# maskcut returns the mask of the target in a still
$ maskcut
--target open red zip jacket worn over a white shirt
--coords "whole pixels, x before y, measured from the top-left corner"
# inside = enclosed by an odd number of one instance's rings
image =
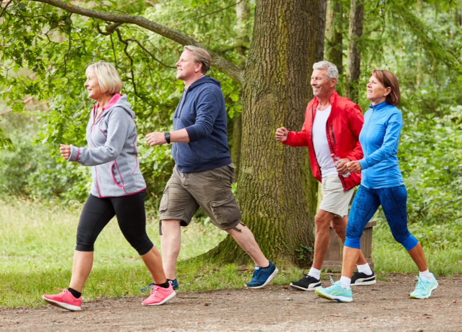
[[[329,118],[326,122],[327,142],[330,152],[340,158],[359,160],[363,157],[363,150],[359,144],[359,133],[363,127],[364,117],[358,105],[345,97],[339,96],[337,91],[330,97],[332,105]],[[289,136],[284,144],[291,147],[306,147],[310,150],[311,171],[313,176],[320,182],[321,169],[316,159],[313,148],[311,129],[318,108],[318,98],[314,97],[306,108],[305,123],[302,131],[289,131]],[[361,173],[351,173],[348,178],[339,174],[344,190],[349,190],[361,182]]]

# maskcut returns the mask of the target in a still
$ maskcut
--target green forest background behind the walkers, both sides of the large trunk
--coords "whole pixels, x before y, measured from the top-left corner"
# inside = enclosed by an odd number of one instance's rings
[[[365,112],[369,105],[365,86],[371,70],[388,69],[398,76],[399,108],[404,118],[398,157],[408,191],[410,228],[430,250],[460,250],[462,1],[309,2],[319,12],[318,29],[312,35],[316,44],[312,51],[317,53],[314,60],[337,64],[340,95],[349,96]],[[243,69],[259,1],[72,3],[102,12],[143,16],[194,38]],[[18,208],[35,202],[37,209],[66,210],[78,209],[85,202],[91,181],[89,168],[65,162],[58,156],[58,147],[60,143],[86,146],[85,124],[93,101],[83,88],[85,68],[102,59],[119,70],[123,93],[137,114],[138,160],[148,193],[146,210],[155,220],[174,162],[170,146],[150,147],[144,135],[172,130],[173,112],[183,89],[183,83],[175,79],[174,66],[182,45],[134,24],[104,22],[35,1],[2,0],[0,5],[2,206]],[[311,67],[308,71],[311,75]],[[237,76],[232,79],[223,72],[212,66],[209,75],[222,83],[231,157],[239,166],[243,88],[236,82]],[[295,111],[304,114],[305,109]],[[268,134],[272,139],[275,129]],[[240,167],[238,177],[239,171]],[[306,174],[311,177],[311,172]],[[244,204],[240,183],[234,184],[234,191],[239,204]],[[316,202],[312,205],[316,207]],[[384,233],[386,222],[380,212],[376,217],[382,221],[375,231],[381,243],[392,243],[390,235]],[[202,211],[196,214],[196,223],[202,229],[208,225]],[[218,236],[213,245],[223,238]],[[3,240],[3,248],[7,243]],[[374,243],[375,254],[386,255]],[[293,254],[309,261],[312,243],[302,244]],[[454,263],[462,263],[456,256]]]

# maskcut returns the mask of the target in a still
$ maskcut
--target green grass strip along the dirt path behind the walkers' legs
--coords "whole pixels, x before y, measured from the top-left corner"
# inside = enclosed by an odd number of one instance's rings
[[[68,286],[80,211],[81,206],[42,206],[27,200],[0,198],[0,306],[40,306],[44,304],[42,294],[53,294],[55,286]],[[419,225],[410,228],[414,235],[425,238],[422,243],[431,272],[439,276],[462,273],[458,246],[462,241],[453,236],[459,234],[456,228],[444,230],[446,238],[451,239],[446,242],[433,239],[431,228],[424,233]],[[442,229],[437,228],[435,234],[442,237]],[[148,217],[147,232],[160,248],[156,215]],[[251,279],[250,265],[217,266],[188,260],[213,248],[225,236],[226,232],[208,223],[192,223],[182,228],[177,268],[180,291],[242,288]],[[436,246],[435,241],[439,241]],[[93,270],[83,292],[85,300],[140,295],[143,293],[139,288],[151,282],[142,260],[123,238],[115,220],[96,241],[94,257]],[[386,222],[380,220],[374,229],[373,257],[377,279],[387,280],[385,272],[417,273],[404,248],[393,240]],[[273,282],[287,284],[298,280],[301,273],[299,269],[282,270]]]

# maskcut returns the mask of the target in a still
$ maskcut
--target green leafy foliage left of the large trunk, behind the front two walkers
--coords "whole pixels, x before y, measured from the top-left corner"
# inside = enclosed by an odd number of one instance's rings
[[[226,59],[240,61],[235,48],[235,8],[227,1],[164,0],[157,1],[155,7],[141,0],[129,4],[93,1],[91,6],[101,11],[143,15],[165,23]],[[24,160],[31,159],[33,153],[41,156],[38,158],[41,164],[38,161],[33,164],[33,175],[27,170],[26,177],[24,167],[17,170],[24,171],[20,177],[26,180],[10,189],[43,197],[54,195],[65,200],[85,199],[87,171],[63,163],[58,158],[58,147],[60,143],[87,145],[85,127],[93,101],[87,98],[83,87],[85,68],[95,60],[106,60],[116,66],[123,81],[122,93],[128,95],[137,115],[140,168],[147,182],[150,202],[158,203],[173,169],[173,159],[170,147],[151,148],[144,135],[172,129],[173,112],[183,89],[172,67],[182,46],[137,26],[124,24],[111,34],[105,32],[105,26],[106,22],[71,15],[33,1],[13,3],[5,9],[0,19],[0,98],[13,113],[23,112],[25,96],[46,101],[48,105],[45,112],[35,115],[44,121],[40,130],[34,132],[37,145],[32,147],[27,139],[11,136],[18,151],[0,155],[5,165],[6,160],[12,161],[14,153],[19,151]],[[240,87],[213,68],[209,75],[222,82],[232,124],[232,118],[241,110]],[[1,144],[6,147],[9,142],[0,136],[0,148]],[[47,148],[49,160],[45,153]],[[55,158],[57,161],[52,160]],[[32,167],[30,165],[28,167]]]

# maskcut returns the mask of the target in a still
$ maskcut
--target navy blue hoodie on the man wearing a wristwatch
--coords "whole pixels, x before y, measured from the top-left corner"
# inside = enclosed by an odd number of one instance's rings
[[[225,98],[220,82],[202,76],[186,90],[173,114],[173,130],[186,128],[189,143],[173,143],[176,168],[201,172],[231,164]]]

